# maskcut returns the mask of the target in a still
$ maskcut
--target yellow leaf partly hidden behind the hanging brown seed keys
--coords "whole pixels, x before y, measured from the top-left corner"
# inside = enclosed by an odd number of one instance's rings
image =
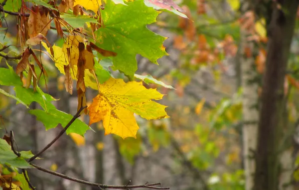
[[[50,52],[50,48],[47,46],[47,44],[45,42],[42,41],[42,45],[46,48],[46,50],[48,52]],[[53,45],[52,46],[55,57],[53,57],[52,55],[49,54],[49,56],[54,60],[55,62],[55,66],[59,69],[59,71],[63,74],[65,74],[64,71],[64,65],[68,65],[69,64],[69,60],[68,60],[68,55],[65,54],[65,52],[62,50],[63,48]],[[78,46],[77,46],[78,48]],[[73,51],[75,53],[75,51]],[[79,53],[79,50],[78,50]],[[79,54],[78,54],[78,58],[79,58]],[[77,61],[78,61],[77,58]],[[73,65],[73,68],[70,68],[70,74],[72,76],[73,79],[77,80],[77,65]],[[85,69],[85,77],[84,77],[84,82],[86,86],[90,86],[93,89],[98,89],[96,80],[94,78],[94,75],[89,71],[89,69]]]

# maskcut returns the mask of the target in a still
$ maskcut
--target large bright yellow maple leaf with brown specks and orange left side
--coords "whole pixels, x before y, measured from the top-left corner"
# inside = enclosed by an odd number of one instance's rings
[[[117,134],[122,138],[134,137],[138,125],[134,113],[146,119],[169,117],[167,106],[152,99],[161,99],[163,94],[156,89],[146,89],[142,82],[110,78],[100,85],[100,94],[93,98],[88,107],[90,122],[103,120],[105,134]]]

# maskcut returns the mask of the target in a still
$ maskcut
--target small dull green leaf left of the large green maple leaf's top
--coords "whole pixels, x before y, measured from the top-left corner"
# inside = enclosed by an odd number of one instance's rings
[[[99,23],[95,18],[88,15],[74,15],[74,14],[62,14],[60,15],[66,22],[68,22],[74,28],[83,27],[86,22]]]

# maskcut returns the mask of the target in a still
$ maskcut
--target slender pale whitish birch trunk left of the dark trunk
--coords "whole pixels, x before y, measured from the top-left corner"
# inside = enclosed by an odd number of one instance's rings
[[[244,0],[241,12],[244,14],[249,8],[248,0]],[[256,149],[257,142],[257,122],[258,122],[258,80],[255,68],[254,57],[246,55],[245,49],[254,51],[254,43],[247,40],[248,32],[241,30],[241,43],[239,47],[240,59],[237,66],[240,68],[240,78],[242,87],[242,139],[243,139],[243,165],[245,171],[245,189],[251,190],[253,187],[253,176],[255,172],[255,160],[253,151]]]

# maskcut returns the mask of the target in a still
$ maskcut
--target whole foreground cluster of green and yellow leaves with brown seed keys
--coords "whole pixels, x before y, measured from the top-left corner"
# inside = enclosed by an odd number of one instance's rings
[[[48,72],[44,66],[47,60],[44,55],[52,59],[65,75],[65,89],[70,94],[73,93],[73,80],[77,80],[78,110],[87,104],[87,87],[98,91],[81,114],[90,116],[89,125],[102,120],[105,134],[136,138],[139,127],[134,114],[145,119],[169,117],[166,106],[154,101],[162,99],[163,94],[156,89],[145,88],[142,82],[173,87],[151,75],[135,74],[135,56],[141,54],[158,64],[157,59],[168,55],[163,46],[166,37],[151,31],[146,25],[156,21],[160,13],[158,9],[187,17],[172,0],[61,0],[59,4],[54,0],[17,0],[14,3],[12,0],[2,0],[1,3],[0,8],[5,12],[1,25],[8,16],[18,16],[18,43],[14,45],[20,48],[11,48],[10,40],[1,43],[0,57],[19,62],[17,65],[7,63],[7,68],[0,68],[0,85],[14,86],[16,94],[4,89],[0,92],[27,108],[36,101],[42,109],[30,109],[29,112],[36,115],[46,129],[54,128],[59,123],[66,127],[73,116],[58,110],[52,103],[57,99],[39,86],[44,82],[48,90]],[[7,29],[2,27],[2,33]],[[51,29],[57,31],[63,43],[51,45],[47,39]],[[5,53],[5,49],[11,51]],[[15,66],[16,69],[13,68]],[[129,81],[114,78],[109,67],[124,73]],[[135,77],[139,81],[135,81]],[[89,125],[75,119],[66,132],[83,136]],[[32,167],[26,160],[33,156],[31,152],[21,151],[18,156],[6,140],[0,140],[1,164],[9,165],[14,171]],[[24,176],[25,173],[17,174],[22,183],[20,186],[29,189],[24,186],[27,185]],[[19,189],[12,186],[12,177],[9,179],[1,176],[2,188]]]

